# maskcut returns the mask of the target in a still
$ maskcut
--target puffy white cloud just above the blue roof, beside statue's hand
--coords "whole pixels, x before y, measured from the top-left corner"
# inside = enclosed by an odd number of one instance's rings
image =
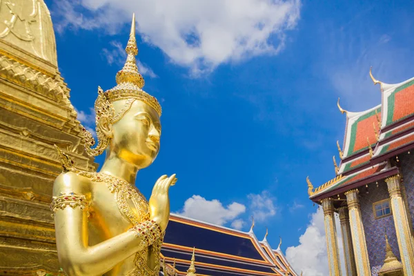
[[[184,203],[183,210],[178,215],[199,219],[211,224],[224,225],[246,212],[246,206],[233,202],[223,206],[217,199],[207,200],[199,195],[193,195]],[[234,221],[233,221],[234,222]],[[239,222],[236,222],[236,225]]]

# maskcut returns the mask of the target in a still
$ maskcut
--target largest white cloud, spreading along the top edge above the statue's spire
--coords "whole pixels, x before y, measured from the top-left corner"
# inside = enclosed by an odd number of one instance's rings
[[[53,10],[60,18],[58,32],[115,33],[135,12],[144,41],[199,74],[227,61],[277,55],[286,31],[299,20],[300,6],[299,0],[61,0]]]

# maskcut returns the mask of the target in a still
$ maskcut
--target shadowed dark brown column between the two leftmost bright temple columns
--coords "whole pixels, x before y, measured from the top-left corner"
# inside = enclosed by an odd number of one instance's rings
[[[346,276],[357,276],[355,255],[353,253],[351,225],[349,224],[348,208],[339,208],[339,221],[341,221],[342,244],[344,244]]]

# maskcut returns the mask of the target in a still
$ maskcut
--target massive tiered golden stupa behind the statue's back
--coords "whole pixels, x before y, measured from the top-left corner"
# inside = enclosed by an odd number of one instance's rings
[[[96,164],[57,67],[46,4],[0,1],[0,19],[0,275],[56,275],[49,207],[62,169],[54,144],[82,170]]]

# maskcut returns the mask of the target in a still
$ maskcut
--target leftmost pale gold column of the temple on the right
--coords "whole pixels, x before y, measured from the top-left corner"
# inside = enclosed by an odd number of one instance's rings
[[[333,199],[328,197],[322,199],[322,208],[324,208],[324,221],[326,233],[326,246],[328,248],[329,274],[331,276],[342,275],[339,262],[338,239],[335,226]]]

